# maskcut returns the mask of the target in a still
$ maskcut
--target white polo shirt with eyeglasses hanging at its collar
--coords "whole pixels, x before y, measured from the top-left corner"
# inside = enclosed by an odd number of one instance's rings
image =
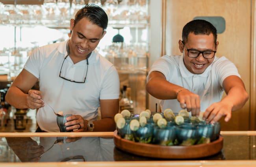
[[[119,75],[111,62],[97,51],[93,51],[88,58],[85,83],[62,79],[59,72],[64,57],[67,56],[67,41],[36,49],[24,69],[39,79],[42,99],[56,112],[63,111],[63,114],[81,115],[84,119],[96,120],[100,99],[119,98]],[[86,60],[74,64],[68,56],[63,64],[61,76],[83,81],[86,70]],[[47,105],[39,108],[36,118],[42,130],[59,132],[56,116]]]

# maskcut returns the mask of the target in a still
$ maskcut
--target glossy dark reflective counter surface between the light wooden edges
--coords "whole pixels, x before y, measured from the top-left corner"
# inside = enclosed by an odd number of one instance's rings
[[[193,160],[256,160],[255,136],[223,137],[224,145],[221,152]],[[0,162],[168,160],[126,153],[115,147],[113,138],[103,137],[2,137],[0,150]]]

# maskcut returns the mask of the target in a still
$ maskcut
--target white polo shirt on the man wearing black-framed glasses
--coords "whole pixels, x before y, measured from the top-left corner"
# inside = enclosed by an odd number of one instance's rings
[[[201,111],[205,111],[212,103],[221,101],[224,92],[222,83],[226,77],[230,75],[240,77],[236,66],[226,57],[215,57],[204,73],[193,74],[187,70],[183,55],[165,55],[154,62],[149,73],[152,71],[163,73],[170,83],[182,86],[199,95]],[[160,100],[160,107],[162,111],[166,108],[171,108],[174,113],[182,110],[177,99]],[[189,113],[191,114],[191,112]]]

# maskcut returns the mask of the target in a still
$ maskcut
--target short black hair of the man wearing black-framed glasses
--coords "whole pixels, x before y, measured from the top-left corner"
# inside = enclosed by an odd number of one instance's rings
[[[195,35],[210,35],[213,34],[214,43],[217,41],[217,29],[206,20],[192,20],[188,22],[182,29],[182,41],[185,44],[189,33]]]

